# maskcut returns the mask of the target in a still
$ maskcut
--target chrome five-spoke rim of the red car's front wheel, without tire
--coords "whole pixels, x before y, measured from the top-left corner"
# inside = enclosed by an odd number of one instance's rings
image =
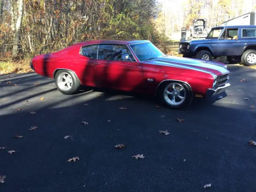
[[[180,105],[186,99],[186,90],[181,84],[170,83],[164,88],[164,99],[170,105]]]

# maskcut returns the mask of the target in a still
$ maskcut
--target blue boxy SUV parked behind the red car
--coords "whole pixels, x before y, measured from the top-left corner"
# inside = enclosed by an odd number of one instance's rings
[[[205,39],[180,42],[178,53],[202,60],[226,56],[230,64],[255,65],[256,25],[214,27]]]

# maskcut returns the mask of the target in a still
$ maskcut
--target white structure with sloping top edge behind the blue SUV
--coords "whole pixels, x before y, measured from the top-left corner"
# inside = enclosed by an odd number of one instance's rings
[[[256,25],[256,12],[249,12],[225,21],[221,26]]]

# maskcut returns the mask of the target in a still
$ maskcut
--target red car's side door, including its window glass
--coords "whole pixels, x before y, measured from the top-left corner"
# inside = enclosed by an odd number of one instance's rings
[[[126,44],[99,44],[98,63],[104,73],[95,73],[105,88],[124,91],[140,89],[143,71]]]

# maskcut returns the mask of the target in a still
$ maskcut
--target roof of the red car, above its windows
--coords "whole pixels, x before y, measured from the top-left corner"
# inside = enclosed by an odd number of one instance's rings
[[[89,44],[137,44],[137,43],[146,43],[150,42],[148,40],[132,40],[132,39],[99,39],[99,40],[89,40],[77,43],[75,45],[89,45]]]

